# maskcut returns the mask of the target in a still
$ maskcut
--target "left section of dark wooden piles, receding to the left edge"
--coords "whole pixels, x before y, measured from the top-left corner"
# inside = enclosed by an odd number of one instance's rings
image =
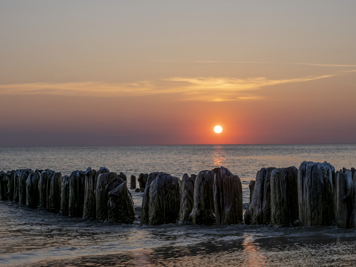
[[[131,223],[135,206],[126,176],[101,167],[70,176],[51,169],[17,169],[0,173],[0,199],[65,216]]]

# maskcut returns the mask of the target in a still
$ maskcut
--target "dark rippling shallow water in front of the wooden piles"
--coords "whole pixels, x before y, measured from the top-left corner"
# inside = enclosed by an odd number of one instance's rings
[[[349,266],[356,260],[356,229],[141,227],[95,223],[2,201],[0,213],[1,266],[290,267]]]

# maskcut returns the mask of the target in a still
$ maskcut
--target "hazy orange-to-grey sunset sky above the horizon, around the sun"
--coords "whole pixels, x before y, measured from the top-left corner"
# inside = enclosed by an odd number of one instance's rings
[[[0,1],[0,146],[356,143],[355,10]]]

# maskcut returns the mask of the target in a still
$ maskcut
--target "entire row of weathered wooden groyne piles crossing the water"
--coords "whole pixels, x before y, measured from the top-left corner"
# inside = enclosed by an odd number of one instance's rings
[[[334,225],[356,227],[355,168],[335,168],[328,162],[296,167],[261,168],[249,184],[250,205],[243,215],[239,176],[225,167],[185,173],[131,175],[131,189],[143,192],[141,225],[167,223],[277,226]],[[135,206],[124,173],[51,169],[0,172],[0,199],[33,209],[99,222],[132,223]]]

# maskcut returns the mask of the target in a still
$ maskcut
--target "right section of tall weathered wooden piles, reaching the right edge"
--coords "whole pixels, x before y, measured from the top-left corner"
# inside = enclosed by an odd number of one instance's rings
[[[356,227],[355,168],[335,172],[326,161],[262,168],[249,187],[246,224]]]

